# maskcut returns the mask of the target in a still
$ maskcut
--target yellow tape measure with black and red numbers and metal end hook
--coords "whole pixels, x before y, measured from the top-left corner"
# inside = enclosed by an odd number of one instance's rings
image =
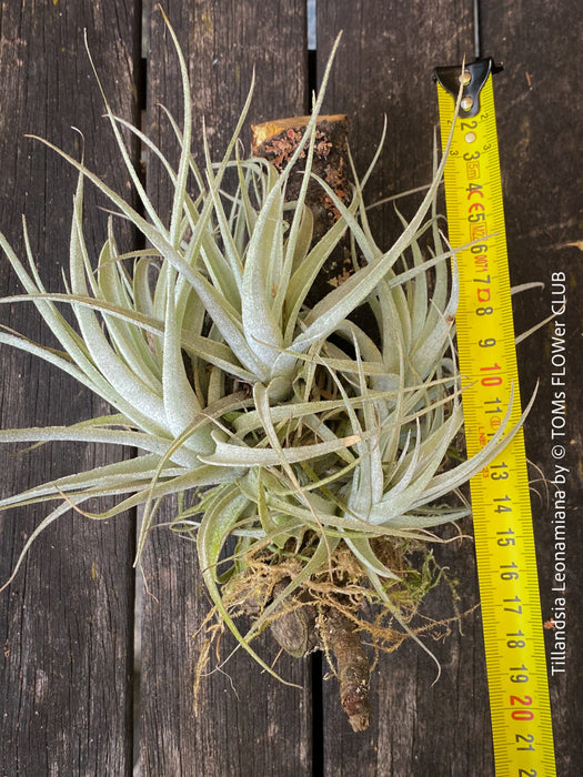
[[[521,416],[492,59],[438,68],[450,243],[456,251],[458,351],[469,455]],[[463,84],[460,112],[455,100]],[[462,248],[465,246],[465,248]],[[556,774],[522,431],[471,484],[496,776]]]

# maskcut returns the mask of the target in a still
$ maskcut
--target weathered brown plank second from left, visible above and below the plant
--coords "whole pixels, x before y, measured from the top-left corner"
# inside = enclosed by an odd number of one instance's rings
[[[304,3],[265,7],[251,1],[225,6],[200,0],[164,4],[188,59],[195,134],[202,161],[202,117],[214,158],[221,158],[247,98],[252,68],[257,89],[250,122],[303,113],[305,92]],[[164,150],[171,129],[157,102],[181,118],[178,63],[163,20],[154,11],[148,58],[148,127]],[[250,133],[245,133],[249,153]],[[171,157],[172,158],[172,157]],[[168,191],[153,163],[148,189],[168,209]],[[172,506],[165,513],[172,516]],[[164,516],[161,516],[164,519]],[[148,593],[142,629],[142,774],[278,775],[311,774],[310,662],[280,658],[278,670],[301,689],[262,674],[241,650],[202,683],[199,716],[193,682],[201,649],[194,633],[209,604],[195,548],[168,529],[151,535],[144,555]],[[222,655],[233,642],[225,638]],[[259,645],[268,662],[277,649]]]

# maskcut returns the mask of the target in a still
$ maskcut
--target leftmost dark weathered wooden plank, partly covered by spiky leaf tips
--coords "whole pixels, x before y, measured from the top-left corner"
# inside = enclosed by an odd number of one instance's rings
[[[62,287],[68,261],[76,175],[24,133],[79,155],[74,124],[84,134],[88,164],[113,185],[125,182],[119,167],[110,165],[112,145],[102,137],[102,101],[83,28],[112,103],[134,115],[133,3],[11,2],[0,14],[0,229],[22,255],[20,215],[27,214],[40,273],[54,290]],[[87,204],[94,210],[89,191]],[[104,239],[103,226],[103,216],[87,224],[90,245]],[[2,295],[21,291],[4,258],[0,283]],[[52,342],[30,305],[2,306],[0,315],[33,339]],[[3,427],[70,423],[105,412],[39,361],[6,346],[0,359]],[[105,460],[101,451],[66,445],[16,453],[0,450],[2,496]],[[2,583],[44,514],[2,514]],[[132,546],[132,521],[102,526],[63,518],[36,543],[0,595],[0,774],[131,774]]]

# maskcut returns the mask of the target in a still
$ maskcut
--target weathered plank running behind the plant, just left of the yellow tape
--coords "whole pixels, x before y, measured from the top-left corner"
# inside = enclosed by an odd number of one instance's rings
[[[328,90],[329,111],[346,112],[349,142],[362,174],[388,117],[388,140],[368,200],[390,196],[431,178],[433,127],[438,121],[432,71],[473,54],[472,2],[318,3],[321,74],[331,42],[343,39]],[[405,215],[420,195],[399,202]],[[388,246],[400,231],[392,205],[373,212],[373,231]],[[468,531],[471,525],[466,526]],[[439,562],[459,578],[462,612],[479,601],[471,541],[435,548]],[[436,620],[453,615],[448,586],[426,599],[423,612]],[[479,614],[455,624],[443,642],[426,638],[441,664],[413,643],[380,657],[372,682],[372,723],[353,734],[338,707],[334,683],[324,684],[324,774],[487,775],[493,773],[490,714]]]

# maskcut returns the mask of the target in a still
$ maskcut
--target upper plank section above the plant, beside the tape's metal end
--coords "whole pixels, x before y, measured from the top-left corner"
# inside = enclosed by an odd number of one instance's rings
[[[332,43],[342,40],[326,90],[324,110],[348,113],[350,147],[358,172],[370,164],[386,117],[382,158],[366,186],[366,199],[429,183],[433,128],[438,121],[433,68],[473,53],[472,0],[426,3],[319,0],[318,77]],[[419,196],[399,202],[405,215]],[[393,206],[371,211],[374,234],[386,248],[401,232]]]

